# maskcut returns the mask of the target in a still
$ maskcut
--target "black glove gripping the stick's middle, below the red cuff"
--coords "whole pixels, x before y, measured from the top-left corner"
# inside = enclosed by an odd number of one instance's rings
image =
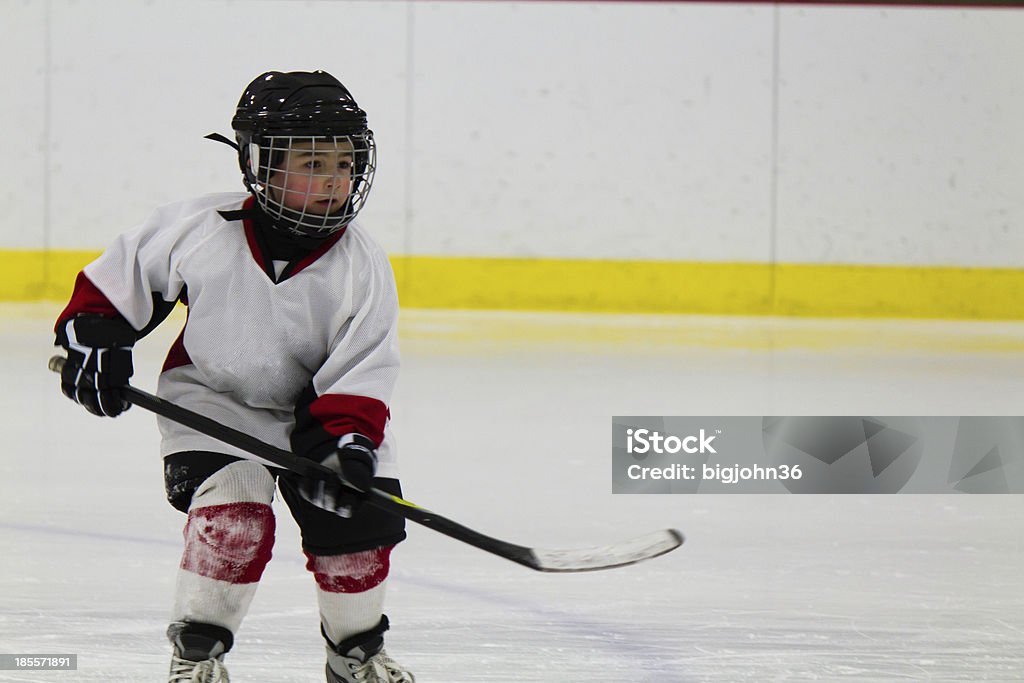
[[[338,441],[338,449],[321,464],[355,488],[367,490],[373,485],[377,471],[377,452],[374,442],[362,434],[346,434]],[[357,492],[337,479],[301,479],[298,489],[302,498],[339,517],[351,517],[360,501]]]

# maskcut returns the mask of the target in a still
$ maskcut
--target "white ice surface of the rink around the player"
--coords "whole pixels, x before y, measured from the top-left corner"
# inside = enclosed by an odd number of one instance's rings
[[[60,395],[59,307],[0,310],[0,652],[165,681],[183,516],[158,433]],[[177,316],[136,354],[153,390]],[[530,546],[675,526],[682,549],[540,574],[410,526],[388,650],[422,683],[1024,681],[1024,497],[612,496],[613,415],[1024,415],[1024,325],[403,311],[406,497]],[[278,541],[226,663],[323,681],[313,582]]]

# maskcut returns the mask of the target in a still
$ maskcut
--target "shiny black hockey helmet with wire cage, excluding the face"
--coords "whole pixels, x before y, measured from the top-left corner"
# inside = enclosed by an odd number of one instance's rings
[[[246,187],[273,224],[297,234],[326,237],[347,225],[366,204],[377,165],[367,113],[348,89],[323,71],[266,72],[242,94],[231,119]],[[308,178],[339,179],[350,172],[343,206],[330,213],[286,206],[280,165],[293,150],[351,150],[350,171],[308,171]],[[287,177],[287,174],[286,174]],[[271,182],[271,179],[276,180]]]

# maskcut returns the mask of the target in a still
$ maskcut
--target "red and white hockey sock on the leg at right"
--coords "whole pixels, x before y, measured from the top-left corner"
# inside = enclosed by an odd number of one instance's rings
[[[346,555],[306,553],[325,635],[339,643],[380,624],[393,546]]]

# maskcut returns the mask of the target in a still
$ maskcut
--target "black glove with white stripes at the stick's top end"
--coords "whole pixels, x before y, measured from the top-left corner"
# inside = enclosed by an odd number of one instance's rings
[[[60,389],[94,415],[116,418],[129,408],[124,387],[133,371],[131,347],[137,333],[125,321],[79,315],[57,330],[57,344],[68,350]]]

